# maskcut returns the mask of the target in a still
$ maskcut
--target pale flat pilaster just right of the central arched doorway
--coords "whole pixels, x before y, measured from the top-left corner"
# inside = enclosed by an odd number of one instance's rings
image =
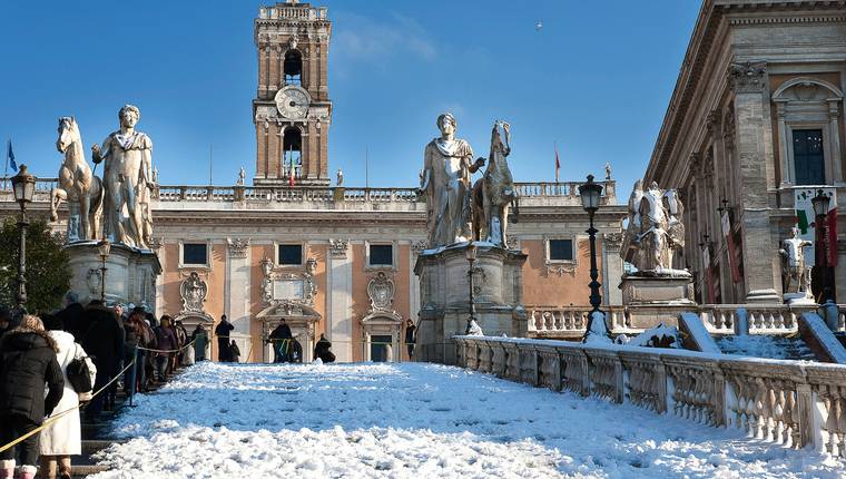
[[[329,240],[326,335],[338,362],[353,360],[353,260],[348,240]]]

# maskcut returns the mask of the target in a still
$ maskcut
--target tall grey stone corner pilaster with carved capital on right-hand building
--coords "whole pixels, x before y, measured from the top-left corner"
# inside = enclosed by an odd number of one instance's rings
[[[735,92],[746,302],[781,303],[780,261],[769,225],[768,188],[776,184],[766,63],[732,63],[728,80]]]

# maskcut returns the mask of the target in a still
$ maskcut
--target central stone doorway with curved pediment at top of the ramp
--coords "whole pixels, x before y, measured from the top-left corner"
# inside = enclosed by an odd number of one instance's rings
[[[262,322],[262,361],[273,361],[273,348],[267,343],[270,331],[279,325],[284,319],[291,333],[303,346],[303,362],[311,362],[314,352],[314,326],[321,321],[321,313],[314,307],[294,302],[282,302],[258,313],[256,316]]]

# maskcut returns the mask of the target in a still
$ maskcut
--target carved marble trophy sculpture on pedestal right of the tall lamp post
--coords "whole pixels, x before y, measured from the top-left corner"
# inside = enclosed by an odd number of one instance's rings
[[[673,253],[685,246],[683,212],[676,189],[665,192],[652,182],[645,192],[641,180],[634,183],[626,229],[629,248],[634,251],[634,267],[655,274],[673,273]]]

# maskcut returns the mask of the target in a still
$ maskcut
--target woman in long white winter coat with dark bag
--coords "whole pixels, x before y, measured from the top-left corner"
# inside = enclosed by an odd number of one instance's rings
[[[61,413],[75,409],[79,405],[79,394],[73,390],[68,381],[68,364],[75,359],[86,358],[87,354],[82,346],[76,343],[73,335],[62,331],[63,324],[61,317],[43,315],[42,321],[45,329],[50,338],[56,341],[59,351],[56,352],[56,359],[62,371],[65,379],[65,390],[62,391],[59,405],[56,412]],[[88,369],[91,377],[91,384],[95,383],[97,369],[92,361],[88,362]],[[58,473],[62,479],[70,479],[70,457],[82,453],[82,436],[79,421],[79,410],[65,414],[56,422],[41,430],[41,478],[55,479],[58,463]]]

